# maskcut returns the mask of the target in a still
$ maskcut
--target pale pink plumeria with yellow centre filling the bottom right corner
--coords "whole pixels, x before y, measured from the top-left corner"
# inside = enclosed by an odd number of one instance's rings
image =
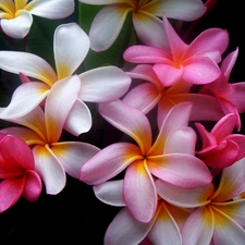
[[[245,241],[245,158],[222,170],[219,186],[182,189],[160,180],[159,195],[172,205],[194,208],[182,228],[183,245],[237,245]],[[194,225],[195,224],[195,225]]]

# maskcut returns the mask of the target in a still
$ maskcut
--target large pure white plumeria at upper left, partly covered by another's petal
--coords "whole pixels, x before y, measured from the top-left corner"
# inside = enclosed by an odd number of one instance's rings
[[[44,59],[28,52],[0,51],[0,68],[4,71],[37,81],[20,85],[7,108],[1,108],[0,118],[11,120],[23,117],[47,98],[53,85],[63,78],[72,79],[73,73],[81,65],[89,50],[89,39],[85,32],[75,23],[62,24],[54,32],[53,51],[56,70]],[[131,77],[115,66],[103,66],[84,72],[81,79],[79,95],[71,119],[82,117],[91,124],[88,102],[107,102],[118,99],[130,87]],[[27,82],[26,82],[27,81]],[[59,86],[58,86],[59,87]],[[81,124],[83,127],[83,124]],[[88,128],[89,130],[89,128]],[[83,128],[82,128],[83,132]],[[75,135],[82,132],[75,133]]]

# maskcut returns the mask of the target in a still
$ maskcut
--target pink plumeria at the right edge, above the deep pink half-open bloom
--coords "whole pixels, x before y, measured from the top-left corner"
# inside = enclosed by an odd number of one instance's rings
[[[211,84],[204,85],[199,93],[215,96],[225,114],[236,114],[236,127],[240,131],[240,113],[245,112],[245,82],[229,83],[237,56],[238,49],[229,53],[221,64],[222,74],[219,78]]]

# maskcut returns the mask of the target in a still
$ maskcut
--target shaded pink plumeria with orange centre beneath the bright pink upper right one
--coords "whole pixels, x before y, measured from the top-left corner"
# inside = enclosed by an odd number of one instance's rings
[[[164,87],[154,72],[152,65],[138,64],[126,72],[138,85],[128,90],[123,102],[148,113],[157,106],[158,125],[161,126],[170,109],[180,102],[193,103],[191,121],[218,121],[224,113],[217,99],[211,95],[191,93],[192,84],[184,81],[171,87]],[[210,110],[212,108],[212,110]]]

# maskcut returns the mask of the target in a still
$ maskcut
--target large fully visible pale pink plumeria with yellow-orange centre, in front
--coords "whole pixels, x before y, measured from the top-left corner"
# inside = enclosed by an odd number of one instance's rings
[[[137,145],[121,142],[101,149],[82,167],[79,180],[97,185],[125,170],[125,203],[140,222],[149,222],[157,208],[155,177],[184,188],[210,183],[209,170],[194,157],[196,134],[186,126],[191,103],[179,103],[170,111],[154,144],[149,121],[140,111],[114,100],[100,103],[99,112]]]

